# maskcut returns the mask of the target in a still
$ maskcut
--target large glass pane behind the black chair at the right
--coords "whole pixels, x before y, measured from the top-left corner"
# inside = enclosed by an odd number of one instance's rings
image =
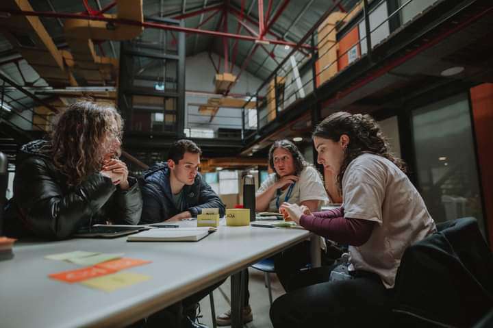
[[[412,112],[416,173],[436,222],[474,216],[484,234],[467,94]]]

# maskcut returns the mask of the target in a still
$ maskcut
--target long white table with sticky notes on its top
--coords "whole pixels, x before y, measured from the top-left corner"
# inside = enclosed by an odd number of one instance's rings
[[[307,238],[318,245],[318,237],[305,230],[223,226],[199,242],[127,242],[126,237],[17,242],[14,259],[0,262],[0,325],[121,327],[230,275],[238,277],[249,265]],[[68,251],[125,253],[125,257],[151,260],[127,270],[152,279],[114,292],[49,279],[51,273],[79,267],[44,258]],[[312,249],[318,261],[319,251],[317,246]],[[233,321],[241,322],[238,313]]]

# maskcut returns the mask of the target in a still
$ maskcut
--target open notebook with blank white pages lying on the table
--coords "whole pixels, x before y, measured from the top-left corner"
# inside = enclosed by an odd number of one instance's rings
[[[151,229],[128,236],[127,242],[198,242],[214,231],[210,227]]]

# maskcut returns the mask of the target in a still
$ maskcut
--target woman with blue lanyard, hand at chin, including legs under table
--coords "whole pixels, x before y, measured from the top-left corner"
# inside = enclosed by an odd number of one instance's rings
[[[279,212],[282,203],[305,206],[310,211],[320,209],[328,201],[327,192],[316,168],[309,165],[296,145],[289,140],[277,140],[269,150],[269,165],[275,173],[262,183],[255,197],[257,212]],[[301,243],[274,258],[279,281],[284,283],[309,263],[309,242]],[[244,293],[243,323],[253,319],[249,305],[248,275]],[[231,311],[220,314],[218,325],[231,325]]]

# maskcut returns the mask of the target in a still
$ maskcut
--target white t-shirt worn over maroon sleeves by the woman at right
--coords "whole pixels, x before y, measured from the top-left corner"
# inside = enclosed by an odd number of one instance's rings
[[[372,154],[349,163],[342,199],[344,217],[377,223],[367,242],[349,247],[351,263],[356,270],[377,273],[392,288],[404,250],[436,231],[425,202],[394,163]]]

